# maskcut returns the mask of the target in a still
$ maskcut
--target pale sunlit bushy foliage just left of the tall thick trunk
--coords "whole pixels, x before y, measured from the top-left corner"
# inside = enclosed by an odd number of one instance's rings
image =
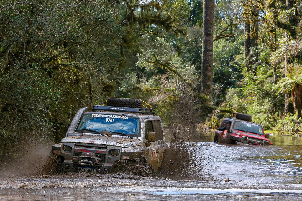
[[[129,74],[120,90],[129,97],[147,100],[156,106],[157,114],[168,121],[169,111],[184,87],[193,86],[198,76],[194,67],[178,56],[172,43],[164,38],[143,36],[137,67],[142,73]],[[166,122],[167,123],[167,122]]]

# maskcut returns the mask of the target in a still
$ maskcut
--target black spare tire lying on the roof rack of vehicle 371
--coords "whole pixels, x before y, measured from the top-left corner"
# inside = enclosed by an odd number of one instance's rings
[[[123,108],[143,108],[143,101],[141,99],[110,98],[106,100],[106,103],[107,106]]]

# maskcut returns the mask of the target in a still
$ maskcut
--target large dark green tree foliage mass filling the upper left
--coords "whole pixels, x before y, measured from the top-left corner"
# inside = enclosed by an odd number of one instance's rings
[[[113,16],[98,3],[1,2],[1,146],[61,138],[80,107],[110,93],[123,34]]]

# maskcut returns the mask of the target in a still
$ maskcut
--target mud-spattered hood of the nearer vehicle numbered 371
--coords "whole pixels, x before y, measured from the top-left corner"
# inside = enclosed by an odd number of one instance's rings
[[[108,137],[108,136],[95,136],[95,135],[68,136],[61,140],[61,143],[64,142],[104,144],[104,145],[111,145],[111,146],[121,146],[123,148],[143,145],[143,140],[139,138],[126,139],[123,137]]]

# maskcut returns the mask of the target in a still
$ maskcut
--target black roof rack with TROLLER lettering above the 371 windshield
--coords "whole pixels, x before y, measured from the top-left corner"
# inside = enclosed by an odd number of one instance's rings
[[[92,108],[92,111],[95,110],[108,110],[108,111],[119,111],[119,112],[135,112],[143,114],[155,114],[153,108],[122,108],[115,106],[106,106],[106,105],[95,105]]]

